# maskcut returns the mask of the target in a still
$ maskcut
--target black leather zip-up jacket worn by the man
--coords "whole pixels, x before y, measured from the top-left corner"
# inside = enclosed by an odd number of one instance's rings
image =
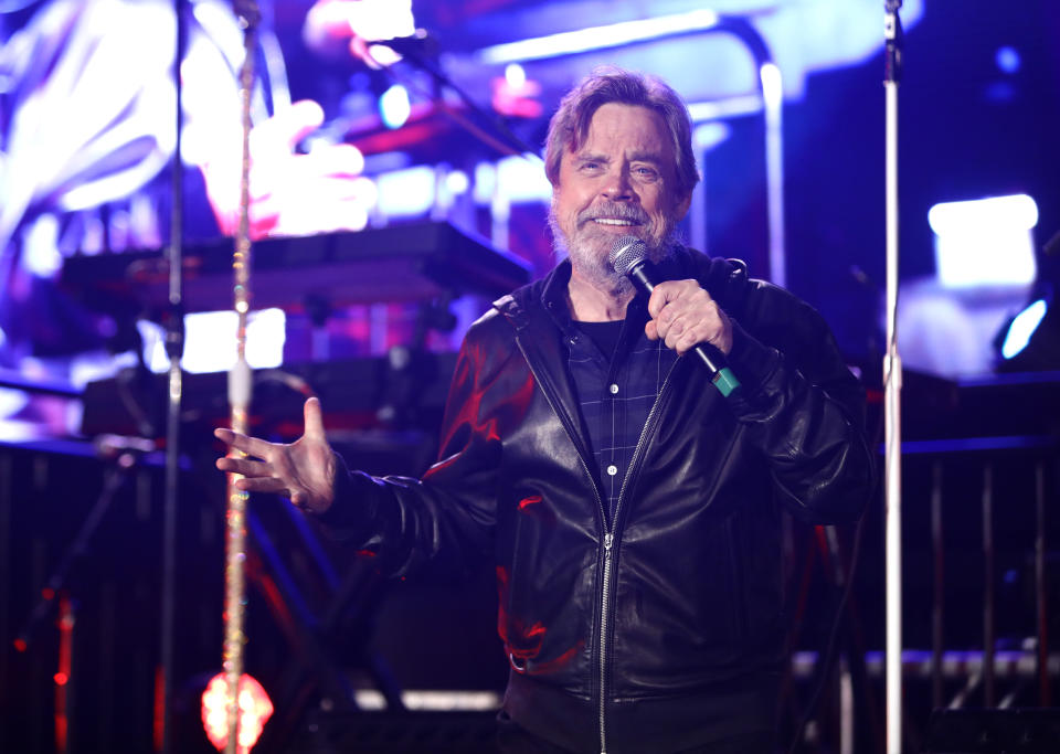
[[[490,552],[505,709],[573,751],[677,751],[710,713],[722,732],[760,725],[784,659],[780,508],[849,521],[871,486],[862,391],[816,311],[741,263],[669,264],[733,319],[743,394],[677,360],[613,525],[549,315],[569,263],[470,328],[424,478],[341,475],[325,514],[392,573]]]

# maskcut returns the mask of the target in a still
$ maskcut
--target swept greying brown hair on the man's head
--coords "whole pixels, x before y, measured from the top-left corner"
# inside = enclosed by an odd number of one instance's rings
[[[677,184],[687,197],[699,182],[692,151],[692,119],[681,96],[662,79],[613,65],[594,68],[560,102],[549,121],[544,142],[544,172],[552,185],[560,182],[564,148],[576,150],[589,136],[589,126],[601,105],[638,105],[662,116],[674,139]]]

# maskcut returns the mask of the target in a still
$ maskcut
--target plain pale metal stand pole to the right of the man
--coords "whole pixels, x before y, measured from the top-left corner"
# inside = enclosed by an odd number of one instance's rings
[[[902,751],[901,389],[898,353],[898,83],[902,64],[902,0],[884,0],[887,353],[884,401],[884,550],[887,572],[887,754]]]

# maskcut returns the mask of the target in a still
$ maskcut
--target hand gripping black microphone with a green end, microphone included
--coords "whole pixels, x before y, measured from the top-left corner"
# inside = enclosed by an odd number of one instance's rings
[[[695,280],[674,282],[669,285],[647,258],[645,243],[632,235],[622,236],[611,248],[610,259],[615,270],[625,275],[638,290],[648,294],[649,338],[664,338],[666,346],[678,353],[691,351],[708,370],[710,381],[728,397],[740,387],[740,381],[725,363],[724,353],[732,344],[732,330],[724,311]],[[655,294],[656,287],[667,285]],[[700,300],[702,299],[702,300]],[[702,315],[706,315],[702,316]],[[710,319],[719,320],[721,330],[710,328]]]

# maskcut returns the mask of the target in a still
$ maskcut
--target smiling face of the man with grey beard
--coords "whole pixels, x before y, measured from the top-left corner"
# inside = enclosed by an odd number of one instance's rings
[[[635,235],[653,258],[688,211],[677,188],[674,144],[662,116],[646,107],[607,103],[576,151],[565,149],[552,192],[550,223],[579,275],[617,290],[624,278],[607,259],[616,238]]]

